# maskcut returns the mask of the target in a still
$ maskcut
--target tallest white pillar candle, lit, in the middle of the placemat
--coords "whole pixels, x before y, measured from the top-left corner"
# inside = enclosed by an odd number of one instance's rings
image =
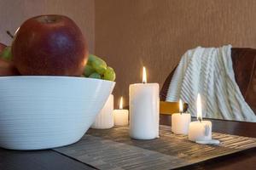
[[[130,136],[132,139],[155,139],[159,137],[159,84],[147,83],[143,67],[143,83],[131,84]]]

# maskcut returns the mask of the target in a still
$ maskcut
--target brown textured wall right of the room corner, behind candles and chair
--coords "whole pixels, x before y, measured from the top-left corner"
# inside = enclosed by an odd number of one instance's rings
[[[255,0],[96,0],[96,54],[117,73],[116,100],[129,84],[164,82],[196,46],[256,48]]]

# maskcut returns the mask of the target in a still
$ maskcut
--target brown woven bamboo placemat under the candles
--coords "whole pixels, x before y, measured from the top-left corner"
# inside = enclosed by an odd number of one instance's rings
[[[160,126],[160,138],[131,139],[128,127],[90,129],[76,144],[56,148],[99,169],[172,169],[207,161],[256,147],[256,139],[224,133],[212,133],[221,144],[195,144],[187,136],[176,135],[171,127]]]

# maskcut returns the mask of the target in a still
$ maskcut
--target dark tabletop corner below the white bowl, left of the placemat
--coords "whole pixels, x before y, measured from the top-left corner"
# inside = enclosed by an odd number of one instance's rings
[[[84,162],[63,155],[53,149],[9,150],[0,147],[1,170],[92,170]]]

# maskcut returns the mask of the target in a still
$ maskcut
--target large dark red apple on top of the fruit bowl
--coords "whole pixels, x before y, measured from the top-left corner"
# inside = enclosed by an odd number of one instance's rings
[[[15,34],[13,60],[21,75],[82,75],[88,47],[79,27],[62,15],[26,20]]]

